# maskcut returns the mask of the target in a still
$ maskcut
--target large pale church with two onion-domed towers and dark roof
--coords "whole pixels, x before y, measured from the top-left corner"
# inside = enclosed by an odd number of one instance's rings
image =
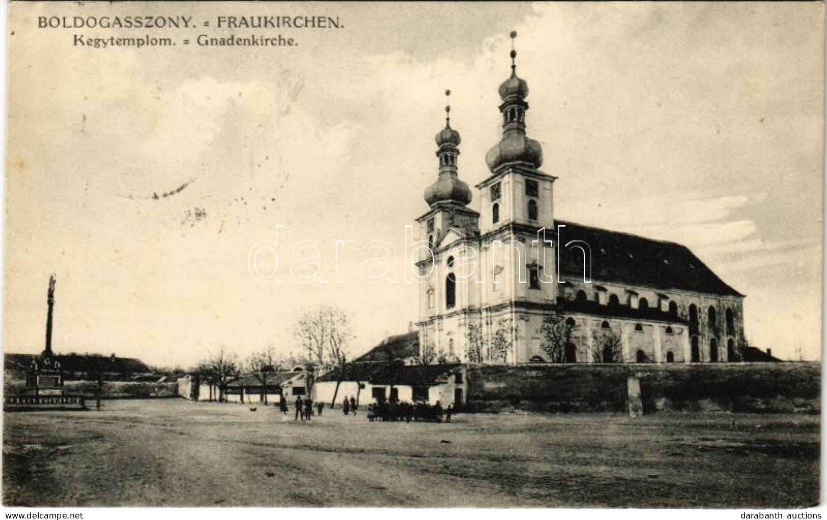
[[[527,135],[515,56],[479,212],[450,117],[436,136],[438,177],[417,219],[429,248],[417,257],[420,350],[447,362],[740,361],[743,295],[688,248],[555,220],[556,177]]]

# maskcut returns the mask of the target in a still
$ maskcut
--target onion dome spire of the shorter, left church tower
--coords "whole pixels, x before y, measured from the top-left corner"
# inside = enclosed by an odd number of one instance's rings
[[[440,203],[453,203],[467,206],[471,202],[471,190],[457,174],[457,148],[461,142],[460,133],[451,128],[451,91],[445,91],[448,104],[445,106],[445,128],[439,131],[434,140],[437,142],[439,158],[439,177],[425,190],[425,201],[432,208]]]

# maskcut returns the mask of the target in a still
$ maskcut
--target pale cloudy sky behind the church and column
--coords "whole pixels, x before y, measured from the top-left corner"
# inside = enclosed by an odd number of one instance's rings
[[[473,185],[500,135],[516,30],[556,216],[685,243],[747,295],[754,345],[820,357],[820,3],[10,9],[7,352],[43,348],[50,272],[58,352],[189,366],[219,344],[295,351],[295,319],[319,303],[351,314],[356,352],[403,332],[417,319],[404,226],[427,210],[443,93]],[[321,14],[344,28],[281,31],[293,48],[104,50],[72,35],[250,31],[36,27],[116,14]],[[399,283],[357,281],[355,252],[339,258],[342,284],[257,283],[248,251],[277,225],[283,266],[318,240],[329,281],[335,240],[386,240]]]

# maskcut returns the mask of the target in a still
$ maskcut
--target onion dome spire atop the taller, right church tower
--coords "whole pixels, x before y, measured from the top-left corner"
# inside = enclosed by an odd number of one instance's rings
[[[536,170],[543,164],[543,149],[534,139],[525,134],[525,111],[528,110],[528,83],[517,76],[514,59],[515,31],[511,32],[511,77],[500,85],[500,112],[503,114],[503,137],[487,154],[485,163],[491,173],[496,173],[505,165],[519,165]]]

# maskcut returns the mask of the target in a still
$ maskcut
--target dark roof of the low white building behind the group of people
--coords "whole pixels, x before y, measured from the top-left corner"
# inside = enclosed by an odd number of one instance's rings
[[[444,382],[449,373],[460,366],[422,365],[411,366],[389,363],[350,363],[345,369],[342,381],[366,381],[371,385],[430,386]],[[317,381],[338,381],[338,370],[327,372]]]

